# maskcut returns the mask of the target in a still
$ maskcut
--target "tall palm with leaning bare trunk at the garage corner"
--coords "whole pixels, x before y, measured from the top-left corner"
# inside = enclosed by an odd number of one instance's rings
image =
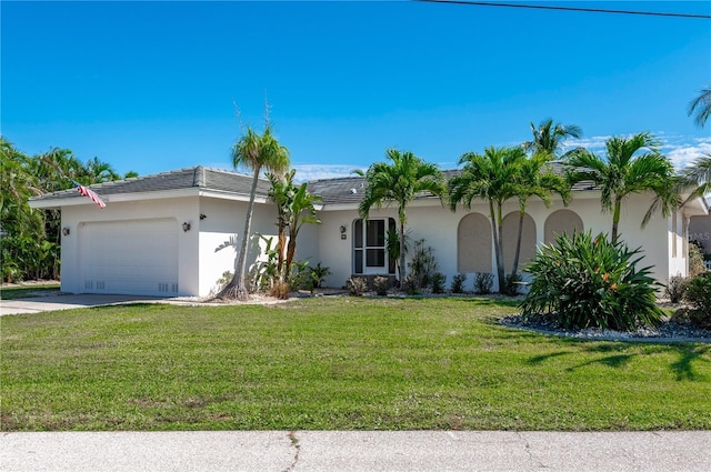
[[[238,300],[249,300],[249,291],[244,281],[244,272],[247,269],[247,244],[252,225],[252,211],[254,208],[254,197],[257,194],[257,182],[262,170],[273,173],[282,173],[289,168],[289,150],[281,145],[277,138],[271,133],[269,123],[263,134],[256,133],[251,128],[247,128],[247,133],[232,147],[232,167],[244,168],[252,171],[252,189],[249,197],[249,205],[247,207],[247,215],[244,218],[244,231],[234,263],[234,275],[230,283],[222,289],[218,297],[237,298]]]

